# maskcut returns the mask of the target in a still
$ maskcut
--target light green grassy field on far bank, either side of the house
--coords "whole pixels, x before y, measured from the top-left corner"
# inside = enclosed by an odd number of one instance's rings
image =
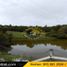
[[[12,34],[13,38],[15,39],[32,39],[32,37],[27,36],[25,32],[14,32],[14,31],[7,31],[8,34]],[[41,34],[36,39],[46,38],[45,34]]]

